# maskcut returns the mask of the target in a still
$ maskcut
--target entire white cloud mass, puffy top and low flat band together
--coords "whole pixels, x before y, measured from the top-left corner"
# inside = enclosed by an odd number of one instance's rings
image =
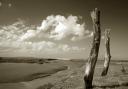
[[[26,25],[18,20],[11,25],[0,26],[0,52],[22,52],[34,54],[58,54],[84,52],[85,48],[67,43],[55,43],[55,40],[67,38],[76,41],[91,37],[85,23],[79,24],[77,16],[51,15],[42,21],[41,26]],[[5,51],[6,50],[6,51]],[[25,55],[26,55],[25,54]]]

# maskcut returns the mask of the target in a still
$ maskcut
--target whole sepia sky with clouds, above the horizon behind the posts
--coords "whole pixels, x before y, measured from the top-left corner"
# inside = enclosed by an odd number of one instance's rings
[[[90,12],[101,11],[102,37],[111,29],[111,55],[128,58],[127,0],[0,0],[0,56],[87,58]],[[104,39],[99,57],[104,56]]]

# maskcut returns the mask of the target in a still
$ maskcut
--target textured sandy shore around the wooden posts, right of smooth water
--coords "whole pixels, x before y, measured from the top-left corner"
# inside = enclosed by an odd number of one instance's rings
[[[2,83],[0,89],[83,89],[84,69],[83,60],[55,60],[55,65],[68,66],[66,70],[59,70],[50,76],[36,78],[31,81],[21,81],[19,83]],[[125,66],[126,73],[122,73],[121,64]],[[41,64],[45,65],[45,64]],[[57,68],[59,68],[57,66]],[[42,67],[41,67],[42,68]],[[46,68],[46,67],[45,67]],[[94,89],[127,89],[128,88],[128,62],[111,62],[108,75],[101,77],[103,63],[98,62],[94,74]]]

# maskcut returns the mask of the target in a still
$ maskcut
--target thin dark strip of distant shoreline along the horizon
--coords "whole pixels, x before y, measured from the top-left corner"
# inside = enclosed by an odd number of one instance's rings
[[[35,57],[0,57],[0,63],[38,63],[38,64],[43,64],[43,63],[49,63],[53,60],[61,60],[60,58],[35,58]],[[64,58],[62,59],[64,60]],[[70,61],[87,61],[87,59],[66,59],[65,60],[70,60]],[[102,62],[104,60],[98,59],[98,62]],[[128,62],[128,60],[124,59],[111,59],[111,62]]]

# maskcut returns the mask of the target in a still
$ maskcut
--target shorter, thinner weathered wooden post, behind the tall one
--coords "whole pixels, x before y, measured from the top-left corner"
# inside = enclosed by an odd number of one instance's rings
[[[109,68],[109,63],[111,60],[110,54],[110,29],[105,30],[105,58],[104,58],[104,68],[101,73],[101,76],[106,76]]]

